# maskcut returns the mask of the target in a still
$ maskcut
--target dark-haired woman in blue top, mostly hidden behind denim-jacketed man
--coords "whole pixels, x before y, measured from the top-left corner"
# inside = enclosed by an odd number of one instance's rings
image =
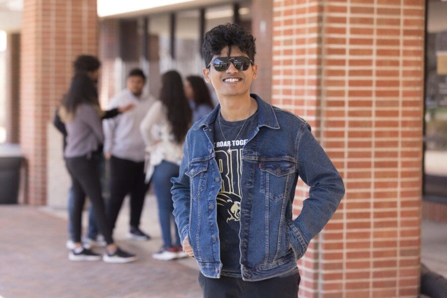
[[[210,90],[201,76],[189,75],[186,77],[185,95],[193,111],[193,123],[202,119],[214,109]]]

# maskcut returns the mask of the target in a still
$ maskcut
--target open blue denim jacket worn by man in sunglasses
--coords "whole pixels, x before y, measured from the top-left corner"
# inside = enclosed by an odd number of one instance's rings
[[[244,281],[296,272],[297,260],[345,192],[309,124],[251,96],[258,103],[258,125],[242,149],[239,248]],[[180,238],[189,238],[200,271],[210,278],[220,278],[222,270],[216,208],[222,178],[213,148],[218,112],[219,106],[189,130],[179,177],[171,179]],[[298,176],[310,190],[294,220]]]

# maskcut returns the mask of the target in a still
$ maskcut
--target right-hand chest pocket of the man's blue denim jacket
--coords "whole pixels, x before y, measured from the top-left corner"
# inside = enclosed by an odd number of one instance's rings
[[[282,201],[289,193],[296,162],[283,159],[266,160],[260,162],[260,169],[261,192],[274,202]]]

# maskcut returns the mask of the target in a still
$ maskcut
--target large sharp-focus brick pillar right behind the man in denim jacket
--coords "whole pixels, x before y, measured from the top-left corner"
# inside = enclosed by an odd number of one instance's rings
[[[300,297],[415,297],[425,3],[274,0],[273,103],[302,116],[346,195],[298,261]],[[296,190],[296,215],[308,188]]]

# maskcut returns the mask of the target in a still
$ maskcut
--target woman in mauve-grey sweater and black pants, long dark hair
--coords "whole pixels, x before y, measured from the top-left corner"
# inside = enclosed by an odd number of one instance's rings
[[[122,111],[120,111],[122,112]],[[62,100],[59,115],[67,130],[67,146],[64,157],[73,185],[73,208],[70,214],[74,249],[69,253],[72,261],[96,261],[101,256],[81,243],[81,216],[85,196],[91,201],[96,222],[107,243],[102,257],[108,263],[128,263],[135,255],[121,250],[113,241],[112,230],[105,214],[101,184],[97,175],[97,163],[92,155],[104,142],[100,109],[93,81],[87,74],[76,74],[68,93]]]

